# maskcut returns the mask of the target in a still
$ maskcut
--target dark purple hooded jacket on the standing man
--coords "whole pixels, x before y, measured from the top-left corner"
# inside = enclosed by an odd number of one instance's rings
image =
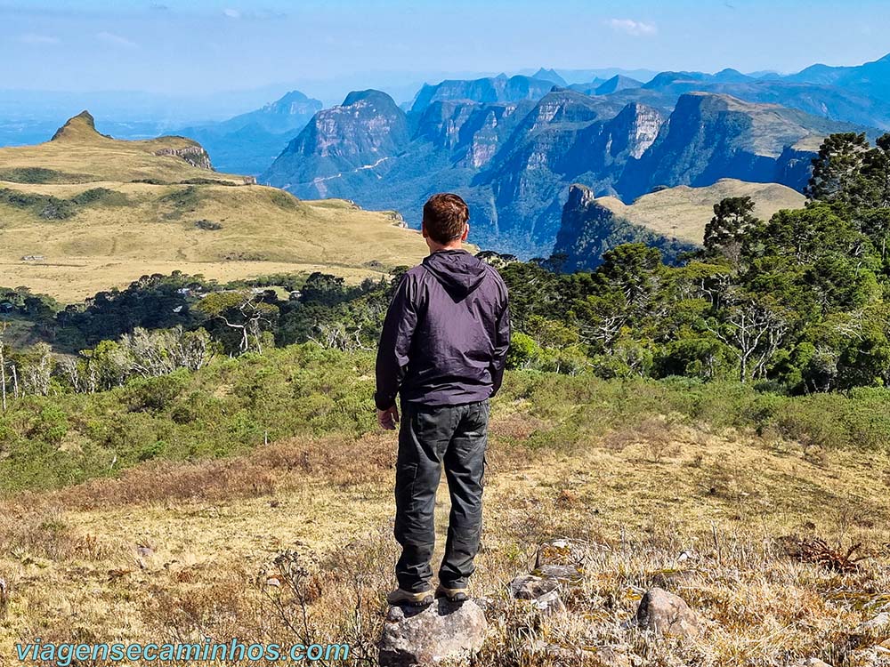
[[[377,349],[380,410],[396,393],[448,406],[493,396],[510,345],[507,292],[498,271],[464,250],[441,250],[410,269],[392,298]]]

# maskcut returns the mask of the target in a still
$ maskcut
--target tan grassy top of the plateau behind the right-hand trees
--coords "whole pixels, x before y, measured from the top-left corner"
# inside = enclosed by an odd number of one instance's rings
[[[665,236],[701,245],[705,225],[714,216],[714,205],[724,197],[751,197],[755,215],[769,220],[781,209],[803,208],[805,197],[778,183],[748,183],[722,179],[705,188],[680,185],[635,199],[631,205],[617,197],[598,197],[596,202],[615,215]]]

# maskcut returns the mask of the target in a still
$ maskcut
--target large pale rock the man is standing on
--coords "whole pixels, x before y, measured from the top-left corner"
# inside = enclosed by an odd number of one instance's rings
[[[465,660],[479,651],[488,622],[473,600],[437,599],[429,607],[390,607],[380,639],[382,667]]]

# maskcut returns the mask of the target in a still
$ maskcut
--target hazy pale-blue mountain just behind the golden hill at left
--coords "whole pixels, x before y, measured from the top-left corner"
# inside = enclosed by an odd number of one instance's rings
[[[257,175],[320,110],[319,100],[291,91],[255,111],[178,133],[200,141],[221,169]]]

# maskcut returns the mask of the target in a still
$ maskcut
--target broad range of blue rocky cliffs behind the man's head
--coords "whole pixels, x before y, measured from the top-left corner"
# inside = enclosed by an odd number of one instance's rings
[[[475,242],[546,255],[574,182],[625,201],[728,177],[802,189],[821,137],[858,129],[709,93],[684,93],[667,112],[639,101],[641,88],[557,87],[531,100],[526,84],[538,79],[510,81],[426,86],[408,114],[383,92],[351,93],[316,114],[261,180],[297,197],[395,209],[414,227],[426,197],[453,190],[471,205]]]

